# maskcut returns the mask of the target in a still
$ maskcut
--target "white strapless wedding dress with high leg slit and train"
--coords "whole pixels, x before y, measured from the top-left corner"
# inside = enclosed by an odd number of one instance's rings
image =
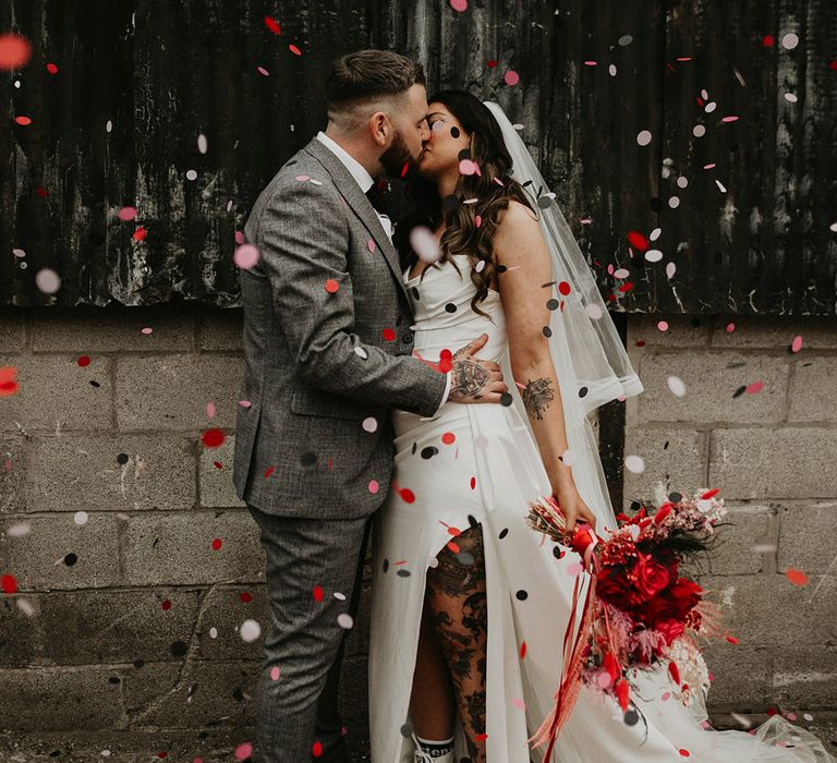
[[[489,291],[471,310],[475,287],[468,257],[429,268],[404,281],[415,317],[415,351],[438,361],[482,332],[478,352],[500,361],[507,353],[502,303]],[[511,380],[507,379],[509,386]],[[558,547],[525,523],[531,499],[549,493],[538,449],[512,407],[447,403],[434,419],[393,411],[398,489],[375,514],[369,717],[373,763],[412,763],[410,692],[428,564],[464,530],[482,523],[488,637],[486,751],[488,763],[539,762],[545,748],[526,740],[554,704],[561,675],[561,641],[574,578]],[[594,509],[590,489],[577,486]],[[411,500],[412,498],[412,500]],[[606,529],[599,522],[599,534]],[[583,589],[583,592],[586,588]],[[521,646],[525,642],[525,655]],[[560,763],[662,763],[663,761],[833,761],[809,731],[774,716],[756,734],[706,730],[703,698],[684,706],[663,671],[638,677],[634,701],[647,722],[629,726],[618,705],[583,688],[553,754]],[[457,761],[466,755],[457,720]]]

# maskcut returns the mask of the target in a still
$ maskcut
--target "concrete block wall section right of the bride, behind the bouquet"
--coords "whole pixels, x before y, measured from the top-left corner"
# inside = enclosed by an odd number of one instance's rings
[[[707,651],[712,707],[836,711],[837,320],[632,316],[628,348],[646,391],[626,407],[624,453],[645,462],[626,505],[662,481],[718,487],[730,509],[699,571],[739,639]]]

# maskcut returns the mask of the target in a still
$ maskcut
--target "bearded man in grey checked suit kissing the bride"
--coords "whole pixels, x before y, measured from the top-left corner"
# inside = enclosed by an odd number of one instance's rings
[[[326,132],[256,201],[244,232],[259,261],[240,271],[245,402],[233,480],[266,556],[271,621],[256,687],[266,763],[348,760],[337,687],[368,518],[390,489],[390,408],[433,416],[447,400],[508,391],[499,366],[474,356],[486,335],[448,373],[412,356],[375,180],[400,177],[429,137],[421,64],[383,50],[344,56],[326,106]]]

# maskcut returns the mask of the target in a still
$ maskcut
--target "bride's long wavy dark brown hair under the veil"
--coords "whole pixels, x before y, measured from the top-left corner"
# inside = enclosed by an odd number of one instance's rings
[[[436,230],[445,220],[445,232],[439,241],[439,263],[450,261],[459,270],[452,255],[465,254],[471,263],[471,280],[476,294],[471,301],[475,313],[488,317],[476,305],[488,296],[495,275],[502,271],[494,258],[493,241],[502,210],[509,201],[525,204],[535,211],[523,186],[511,178],[511,157],[502,140],[502,131],[494,114],[478,98],[465,90],[439,90],[427,99],[428,104],[444,104],[471,134],[471,150],[460,153],[460,159],[476,162],[481,174],[460,174],[451,196],[439,197],[436,184],[421,177],[413,177],[408,185],[412,208],[399,221],[392,241],[402,263],[412,268],[417,256],[410,245],[410,232],[416,226]],[[497,182],[497,181],[500,182]],[[472,201],[476,199],[476,201]],[[469,203],[465,203],[469,202]],[[480,227],[476,216],[481,217]],[[485,263],[477,271],[480,262]],[[437,267],[434,264],[430,267]],[[422,272],[422,278],[427,270]]]

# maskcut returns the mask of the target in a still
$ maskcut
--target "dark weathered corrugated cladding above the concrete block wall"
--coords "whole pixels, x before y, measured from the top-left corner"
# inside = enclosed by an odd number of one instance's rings
[[[615,310],[830,314],[835,27],[829,0],[3,0],[0,28],[34,56],[10,89],[33,123],[0,130],[0,303],[238,304],[234,231],[325,126],[331,60],[383,47],[421,60],[429,92],[465,87],[523,123]],[[655,228],[648,263],[627,233]]]

